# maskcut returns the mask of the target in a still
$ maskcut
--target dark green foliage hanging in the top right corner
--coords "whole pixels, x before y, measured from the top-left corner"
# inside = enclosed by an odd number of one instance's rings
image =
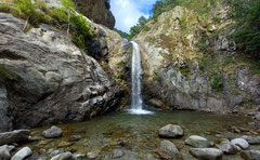
[[[231,8],[240,29],[235,41],[247,53],[260,51],[260,1],[259,0],[224,0]]]

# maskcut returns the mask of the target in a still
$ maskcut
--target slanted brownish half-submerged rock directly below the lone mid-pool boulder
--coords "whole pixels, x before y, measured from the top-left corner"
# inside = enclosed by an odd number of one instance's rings
[[[169,156],[171,156],[174,159],[181,157],[181,155],[180,155],[179,150],[177,149],[176,145],[173,143],[171,143],[170,141],[161,141],[160,142],[160,149],[166,151]]]

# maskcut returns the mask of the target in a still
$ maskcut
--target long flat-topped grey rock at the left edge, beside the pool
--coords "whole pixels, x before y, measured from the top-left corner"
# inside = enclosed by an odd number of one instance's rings
[[[0,133],[0,145],[27,142],[29,136],[29,130],[15,130],[12,132]]]

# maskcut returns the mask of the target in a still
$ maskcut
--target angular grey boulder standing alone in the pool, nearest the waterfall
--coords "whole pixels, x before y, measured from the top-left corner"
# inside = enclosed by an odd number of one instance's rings
[[[180,125],[168,124],[159,130],[159,135],[164,137],[183,136],[183,130]]]

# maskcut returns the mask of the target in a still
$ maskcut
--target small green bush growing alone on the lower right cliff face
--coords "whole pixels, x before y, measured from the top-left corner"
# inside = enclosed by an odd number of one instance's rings
[[[210,86],[217,91],[221,91],[224,86],[223,74],[213,71],[211,75]]]

